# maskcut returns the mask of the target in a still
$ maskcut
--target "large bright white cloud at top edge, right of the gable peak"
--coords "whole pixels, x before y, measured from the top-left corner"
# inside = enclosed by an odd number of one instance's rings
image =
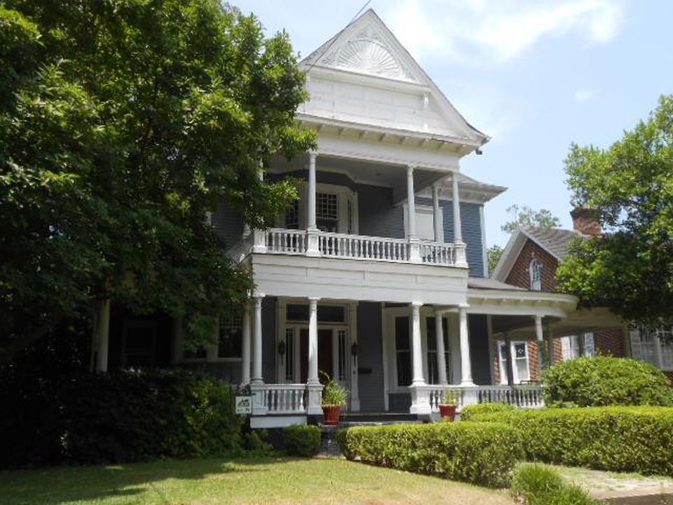
[[[477,65],[507,62],[550,36],[605,43],[617,36],[625,11],[615,0],[401,0],[385,6],[384,18],[414,55]]]

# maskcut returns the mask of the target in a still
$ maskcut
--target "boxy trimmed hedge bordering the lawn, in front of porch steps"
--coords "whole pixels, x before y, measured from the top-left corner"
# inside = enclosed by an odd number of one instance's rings
[[[498,423],[355,426],[337,433],[347,459],[503,487],[522,456],[517,431]]]

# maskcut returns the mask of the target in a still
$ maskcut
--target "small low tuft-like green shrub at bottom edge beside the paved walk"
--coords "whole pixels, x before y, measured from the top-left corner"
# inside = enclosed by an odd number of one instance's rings
[[[528,505],[598,505],[580,487],[565,480],[557,471],[540,464],[524,464],[512,478],[512,494]]]

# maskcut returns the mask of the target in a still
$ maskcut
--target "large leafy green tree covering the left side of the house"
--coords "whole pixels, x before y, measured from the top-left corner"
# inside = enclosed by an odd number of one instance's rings
[[[206,213],[270,224],[297,192],[260,163],[315,142],[287,35],[218,0],[6,0],[0,69],[0,361],[110,298],[198,345],[252,287]]]

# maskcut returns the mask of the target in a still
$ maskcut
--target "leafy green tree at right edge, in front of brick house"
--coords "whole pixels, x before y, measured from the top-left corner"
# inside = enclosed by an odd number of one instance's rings
[[[586,306],[648,325],[673,319],[673,95],[608,149],[574,145],[566,158],[573,204],[606,233],[576,241],[557,271]]]

